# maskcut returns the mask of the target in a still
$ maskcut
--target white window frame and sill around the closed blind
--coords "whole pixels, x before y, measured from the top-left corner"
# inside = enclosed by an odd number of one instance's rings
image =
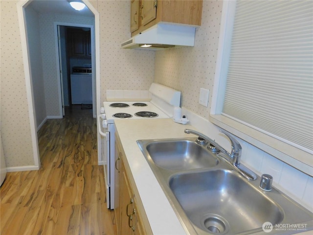
[[[311,153],[222,115],[235,10],[235,0],[223,1],[210,121],[281,161],[313,176],[313,155]]]

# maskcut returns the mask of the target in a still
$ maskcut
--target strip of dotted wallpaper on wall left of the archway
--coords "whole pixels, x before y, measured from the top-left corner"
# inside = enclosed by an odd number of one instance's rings
[[[7,166],[34,165],[17,2],[0,1],[0,128]]]

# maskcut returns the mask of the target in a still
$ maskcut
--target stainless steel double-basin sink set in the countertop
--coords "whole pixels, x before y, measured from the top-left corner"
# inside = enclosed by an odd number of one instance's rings
[[[313,229],[310,211],[275,188],[262,190],[260,177],[247,180],[196,138],[137,143],[188,234],[301,232],[276,229],[282,224]]]

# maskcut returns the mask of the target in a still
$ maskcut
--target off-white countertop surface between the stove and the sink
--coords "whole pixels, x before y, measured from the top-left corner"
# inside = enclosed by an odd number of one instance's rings
[[[175,123],[170,118],[161,118],[118,119],[115,120],[115,127],[122,142],[153,234],[186,234],[136,141],[191,138],[192,136],[184,133],[184,129],[191,126]]]

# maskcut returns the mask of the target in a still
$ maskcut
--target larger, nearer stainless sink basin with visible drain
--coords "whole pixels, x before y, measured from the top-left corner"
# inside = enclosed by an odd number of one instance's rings
[[[284,218],[275,202],[230,170],[177,174],[169,186],[187,217],[209,233],[238,234]]]

